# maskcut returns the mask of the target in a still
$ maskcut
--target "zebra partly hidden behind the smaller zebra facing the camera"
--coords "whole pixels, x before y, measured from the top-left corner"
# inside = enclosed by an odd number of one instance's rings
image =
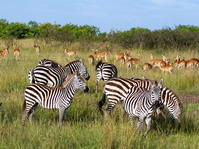
[[[156,82],[154,80],[139,79],[139,78],[112,78],[106,82],[104,85],[104,93],[102,99],[99,101],[99,110],[102,112],[102,106],[106,101],[106,97],[109,100],[108,106],[106,108],[107,113],[111,112],[112,109],[119,101],[126,99],[128,95],[128,90],[132,86],[140,86],[149,91],[151,84]],[[177,95],[169,88],[163,86],[161,88],[161,99],[162,103],[169,110],[169,117],[178,120],[180,114],[182,113],[182,103],[180,102]],[[162,108],[161,108],[162,109]],[[157,110],[160,113],[160,110]]]

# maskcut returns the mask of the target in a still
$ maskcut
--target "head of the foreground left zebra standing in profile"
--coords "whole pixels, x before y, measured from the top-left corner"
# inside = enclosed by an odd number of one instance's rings
[[[88,86],[84,82],[84,79],[78,74],[75,73],[75,80],[74,80],[74,85],[75,88],[83,90],[85,93],[89,91]]]

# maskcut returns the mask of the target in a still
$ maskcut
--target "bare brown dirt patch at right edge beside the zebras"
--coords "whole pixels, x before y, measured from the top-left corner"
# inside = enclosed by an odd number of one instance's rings
[[[199,95],[179,95],[183,104],[199,104]]]

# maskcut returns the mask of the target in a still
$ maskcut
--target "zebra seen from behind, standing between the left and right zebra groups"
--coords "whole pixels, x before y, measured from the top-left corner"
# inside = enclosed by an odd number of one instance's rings
[[[99,61],[95,68],[96,72],[96,94],[98,93],[98,85],[100,80],[104,82],[108,81],[110,78],[117,77],[118,71],[115,65]]]

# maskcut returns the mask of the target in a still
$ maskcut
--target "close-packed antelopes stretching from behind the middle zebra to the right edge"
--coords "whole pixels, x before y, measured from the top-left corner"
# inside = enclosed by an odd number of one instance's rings
[[[102,60],[103,58],[105,59],[105,61],[110,59],[110,54],[108,55],[108,53],[105,51],[98,52],[98,50],[94,49],[92,49],[92,51],[94,51],[94,56],[88,56],[89,64],[93,63],[94,59],[96,59],[97,61]],[[199,67],[199,59],[191,58],[190,60],[185,60],[185,58],[181,57],[180,55],[176,56],[173,63],[171,63],[171,60],[167,58],[165,55],[162,55],[161,59],[155,59],[151,54],[148,57],[148,62],[143,62],[144,60],[147,61],[147,58],[143,58],[143,56],[140,54],[136,58],[131,57],[130,55],[130,50],[128,50],[126,53],[116,53],[114,55],[114,64],[119,63],[121,65],[126,65],[127,70],[131,68],[133,65],[135,67],[141,66],[142,69],[145,71],[150,70],[153,67],[157,67],[162,72],[169,73],[171,73],[175,67],[177,69]]]

